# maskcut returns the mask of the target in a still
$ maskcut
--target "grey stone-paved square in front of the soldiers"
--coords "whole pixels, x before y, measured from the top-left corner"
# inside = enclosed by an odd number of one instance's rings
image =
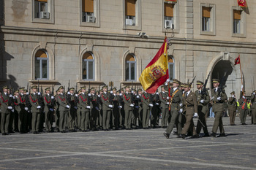
[[[0,136],[0,169],[256,169],[250,118],[224,117],[227,136],[217,138],[166,139],[163,128]]]

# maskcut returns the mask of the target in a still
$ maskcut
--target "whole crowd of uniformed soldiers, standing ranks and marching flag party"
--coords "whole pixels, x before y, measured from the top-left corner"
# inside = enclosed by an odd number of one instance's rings
[[[208,80],[208,79],[207,79]],[[171,131],[178,137],[197,138],[203,128],[203,136],[226,136],[222,123],[224,102],[227,101],[225,90],[219,85],[219,80],[213,80],[211,97],[206,89],[206,82],[197,81],[197,90],[192,92],[192,83],[181,83],[174,79],[170,87],[167,81],[161,86],[161,92],[149,94],[142,89],[131,89],[129,85],[123,89],[108,89],[103,86],[95,88],[82,87],[76,91],[69,88],[64,93],[60,86],[53,95],[53,90],[45,88],[44,93],[34,85],[28,92],[19,88],[12,92],[4,86],[0,94],[1,104],[1,134],[13,132],[25,134],[32,132],[75,132],[75,131],[113,131],[137,128],[166,128],[165,137],[170,137]],[[241,88],[242,89],[242,88]],[[236,96],[234,92],[228,99],[230,125],[234,125],[236,117]],[[250,98],[252,101],[252,123],[256,124],[255,91]],[[241,123],[245,124],[246,98],[241,95]],[[208,133],[206,117],[208,104],[212,102],[215,114],[211,134]],[[193,117],[198,117],[195,128]],[[161,125],[159,119],[162,119]],[[53,125],[53,123],[55,125]]]

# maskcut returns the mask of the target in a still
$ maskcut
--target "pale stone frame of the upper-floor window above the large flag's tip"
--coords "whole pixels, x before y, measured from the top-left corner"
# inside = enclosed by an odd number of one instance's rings
[[[173,5],[173,29],[165,29],[165,3],[174,4]],[[178,33],[179,32],[179,18],[178,18],[178,10],[179,10],[179,1],[165,1],[162,0],[162,32],[167,33]]]

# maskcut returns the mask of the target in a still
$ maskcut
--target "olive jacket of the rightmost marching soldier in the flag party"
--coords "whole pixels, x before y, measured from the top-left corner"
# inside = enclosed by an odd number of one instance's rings
[[[227,95],[225,93],[225,90],[223,90],[221,93],[220,93],[220,96],[218,96],[219,93],[218,91],[215,92],[215,88],[211,89],[211,98],[212,98],[212,101],[213,101],[213,104],[212,104],[212,112],[223,112],[224,110],[224,102],[225,100],[227,100]],[[218,101],[218,97],[221,97],[221,100]]]

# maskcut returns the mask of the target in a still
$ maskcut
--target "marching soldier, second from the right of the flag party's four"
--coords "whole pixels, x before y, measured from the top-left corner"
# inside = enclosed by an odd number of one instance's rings
[[[203,133],[205,134],[204,136],[209,136],[206,119],[208,117],[208,104],[210,102],[210,96],[207,90],[203,92],[203,82],[197,81],[197,89],[198,90],[195,91],[198,104],[197,134],[199,135],[201,129],[203,128]]]

